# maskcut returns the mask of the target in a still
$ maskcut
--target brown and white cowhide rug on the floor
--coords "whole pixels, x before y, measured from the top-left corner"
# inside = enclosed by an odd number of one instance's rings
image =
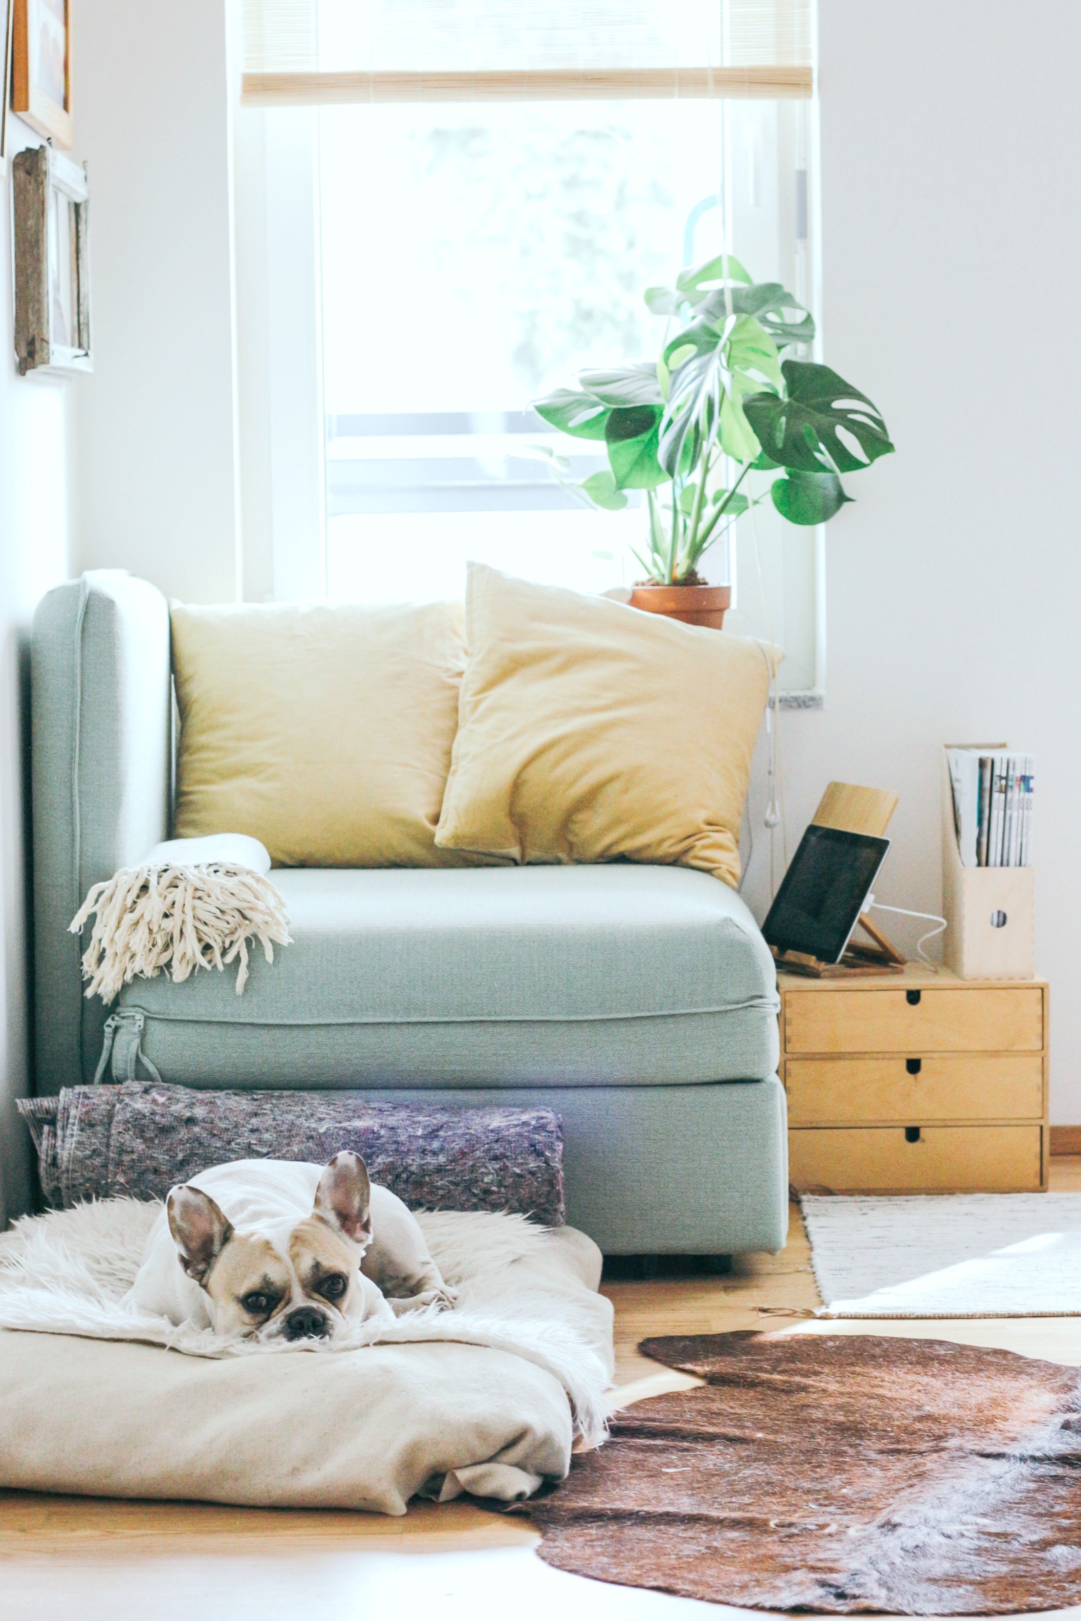
[[[548,1564],[760,1610],[1081,1603],[1076,1368],[929,1339],[697,1334],[530,1504]]]

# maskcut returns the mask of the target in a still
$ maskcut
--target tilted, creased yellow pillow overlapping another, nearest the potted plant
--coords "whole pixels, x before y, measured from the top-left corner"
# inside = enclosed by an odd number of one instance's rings
[[[436,843],[523,862],[682,862],[739,882],[778,648],[470,564]]]

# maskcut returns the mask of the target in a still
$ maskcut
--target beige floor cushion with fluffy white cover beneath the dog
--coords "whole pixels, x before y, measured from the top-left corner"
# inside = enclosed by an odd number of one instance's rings
[[[0,1237],[2,1488],[404,1514],[418,1493],[530,1496],[575,1430],[600,1438],[613,1315],[583,1234],[421,1214],[452,1311],[373,1319],[357,1349],[217,1354],[123,1303],[159,1208]]]

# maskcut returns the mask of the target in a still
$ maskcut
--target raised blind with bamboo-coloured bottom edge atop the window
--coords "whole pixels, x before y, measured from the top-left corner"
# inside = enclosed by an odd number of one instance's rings
[[[810,96],[812,0],[245,0],[248,105]]]

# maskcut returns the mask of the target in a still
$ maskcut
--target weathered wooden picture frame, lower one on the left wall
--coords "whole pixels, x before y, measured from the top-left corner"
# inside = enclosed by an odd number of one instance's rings
[[[89,186],[52,146],[11,159],[15,358],[29,371],[92,371]]]

